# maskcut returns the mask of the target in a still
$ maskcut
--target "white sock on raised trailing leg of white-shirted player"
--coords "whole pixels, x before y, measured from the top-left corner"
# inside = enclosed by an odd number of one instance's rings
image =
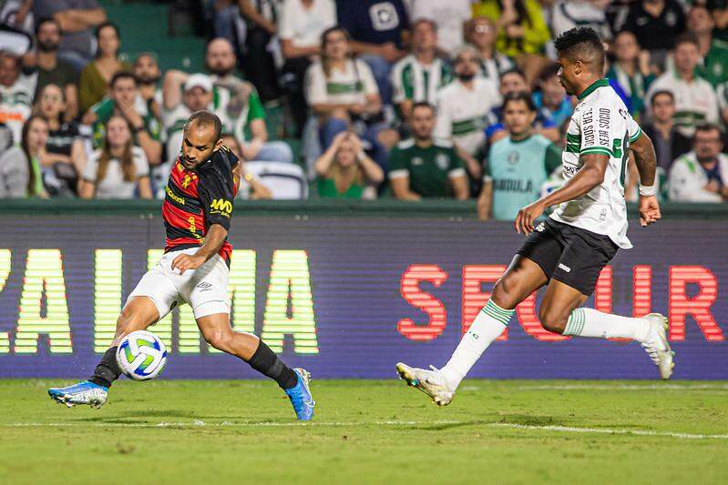
[[[564,335],[596,338],[633,338],[643,342],[650,334],[650,322],[645,318],[630,318],[602,313],[592,308],[577,308],[571,312]]]

